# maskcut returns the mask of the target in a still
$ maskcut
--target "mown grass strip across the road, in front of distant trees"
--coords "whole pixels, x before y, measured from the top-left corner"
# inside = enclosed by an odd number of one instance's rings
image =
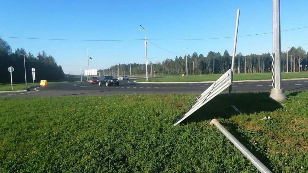
[[[271,73],[240,73],[234,74],[235,81],[243,80],[260,80],[260,79],[271,79]],[[150,78],[148,82],[200,82],[200,81],[216,81],[221,74],[211,74],[211,75],[195,75],[195,76],[184,76],[184,77],[157,77]],[[306,78],[308,77],[308,72],[301,73],[282,73],[282,79],[291,78]],[[138,82],[145,82],[145,79],[136,80]]]

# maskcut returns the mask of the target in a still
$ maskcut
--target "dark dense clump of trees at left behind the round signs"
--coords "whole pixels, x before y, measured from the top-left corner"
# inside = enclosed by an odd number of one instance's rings
[[[0,83],[10,82],[10,73],[7,68],[14,67],[13,82],[25,82],[24,57],[26,61],[27,82],[32,82],[32,68],[35,68],[36,81],[50,80],[56,81],[64,78],[61,65],[57,65],[55,58],[47,55],[44,51],[39,52],[36,57],[32,53],[26,53],[23,48],[17,48],[12,52],[11,46],[0,38]]]

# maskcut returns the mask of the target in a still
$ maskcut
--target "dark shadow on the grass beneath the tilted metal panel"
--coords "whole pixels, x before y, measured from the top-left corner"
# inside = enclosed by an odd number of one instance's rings
[[[183,120],[182,124],[212,120],[214,118],[229,119],[237,114],[230,105],[234,105],[246,114],[274,111],[282,108],[281,104],[270,99],[269,96],[270,93],[268,92],[220,94]]]

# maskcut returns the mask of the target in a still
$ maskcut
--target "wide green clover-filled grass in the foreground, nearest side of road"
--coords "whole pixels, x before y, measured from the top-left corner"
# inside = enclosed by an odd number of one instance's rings
[[[0,172],[258,172],[200,128],[214,117],[273,172],[307,172],[308,92],[268,96],[218,95],[176,127],[196,95],[1,98]]]

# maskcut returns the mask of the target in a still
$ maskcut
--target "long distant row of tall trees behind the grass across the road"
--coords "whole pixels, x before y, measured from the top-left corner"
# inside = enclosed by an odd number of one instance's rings
[[[287,69],[287,58],[286,51],[281,53],[281,69],[282,72],[286,72]],[[235,56],[235,73],[266,73],[271,72],[272,65],[271,53],[250,54],[242,55],[238,53]],[[232,56],[225,50],[222,55],[219,52],[210,51],[205,57],[202,53],[193,53],[191,56],[187,55],[188,64],[188,75],[201,75],[201,74],[222,74],[231,68]],[[186,74],[186,55],[175,57],[174,59],[166,59],[162,62],[151,62],[148,61],[148,73],[151,74],[151,64],[152,73],[163,73],[172,75],[182,75]],[[308,52],[306,52],[302,47],[292,47],[288,51],[288,71],[289,72],[301,72],[306,70],[306,65],[308,63]],[[145,64],[119,64],[112,65],[108,69],[99,70],[104,71],[106,74],[111,73],[113,76],[130,75],[130,66],[132,70],[132,75],[134,74],[145,74]]]

